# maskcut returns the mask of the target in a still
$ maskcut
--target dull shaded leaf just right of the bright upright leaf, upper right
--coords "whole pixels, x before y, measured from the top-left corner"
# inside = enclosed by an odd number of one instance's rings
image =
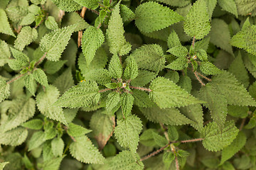
[[[232,0],[233,1],[233,0]],[[228,28],[228,24],[221,19],[213,19],[211,23],[210,30],[210,42],[217,47],[229,52],[233,55],[233,50],[230,45],[230,28]],[[221,37],[221,38],[220,38]]]

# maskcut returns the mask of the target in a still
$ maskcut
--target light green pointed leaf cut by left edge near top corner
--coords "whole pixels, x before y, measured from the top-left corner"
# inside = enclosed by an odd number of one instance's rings
[[[6,16],[6,12],[2,8],[0,8],[0,18],[0,33],[16,37],[14,35],[14,32],[11,30],[8,18]]]

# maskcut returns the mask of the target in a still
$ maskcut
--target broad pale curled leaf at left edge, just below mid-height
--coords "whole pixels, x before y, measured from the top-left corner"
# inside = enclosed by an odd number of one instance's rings
[[[1,123],[0,131],[6,132],[12,130],[22,123],[32,118],[36,111],[36,101],[33,98],[24,98],[24,96],[14,99],[12,106],[9,108],[8,120]]]

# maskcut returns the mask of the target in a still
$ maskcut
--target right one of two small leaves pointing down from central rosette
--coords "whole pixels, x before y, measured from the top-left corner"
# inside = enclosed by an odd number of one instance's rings
[[[129,93],[122,93],[120,96],[121,108],[124,118],[132,114],[132,106],[134,102],[134,97]]]

